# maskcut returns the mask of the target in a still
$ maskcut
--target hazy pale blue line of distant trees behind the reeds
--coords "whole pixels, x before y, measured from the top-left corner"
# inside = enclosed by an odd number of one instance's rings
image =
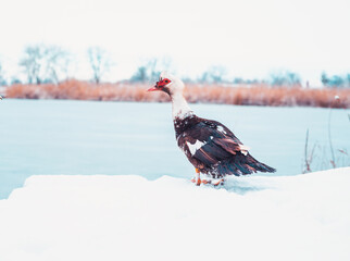
[[[114,71],[114,61],[109,52],[100,47],[90,47],[86,50],[86,59],[90,69],[90,80],[100,84],[107,79],[107,74]],[[5,73],[5,64],[0,61],[0,86],[14,84],[59,84],[72,78],[77,78],[73,69],[79,66],[74,54],[58,46],[34,45],[24,49],[18,66],[26,79],[17,75],[9,76]],[[172,69],[172,60],[146,59],[135,69],[135,73],[129,79],[130,83],[148,83],[158,78],[161,70]],[[114,72],[113,72],[114,73]],[[115,72],[117,74],[117,71]],[[268,85],[273,87],[295,87],[301,86],[299,74],[290,71],[278,71],[268,75],[266,79],[245,79],[228,75],[225,66],[213,65],[205,70],[200,76],[185,77],[187,83],[200,84],[230,84],[230,85]],[[328,88],[349,88],[350,74],[328,76],[322,73],[321,82]],[[307,82],[305,87],[309,87]]]

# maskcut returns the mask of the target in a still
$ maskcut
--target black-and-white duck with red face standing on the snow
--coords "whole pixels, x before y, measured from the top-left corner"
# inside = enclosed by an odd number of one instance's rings
[[[257,159],[224,124],[199,117],[184,97],[184,82],[166,71],[148,91],[163,91],[172,101],[172,116],[177,146],[195,166],[196,185],[224,185],[227,175],[248,175],[257,172],[276,172]],[[201,178],[203,174],[207,178]]]

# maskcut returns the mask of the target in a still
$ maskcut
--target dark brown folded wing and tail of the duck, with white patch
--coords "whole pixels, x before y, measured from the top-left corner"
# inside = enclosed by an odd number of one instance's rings
[[[249,153],[243,154],[240,140],[218,122],[200,121],[180,134],[177,144],[195,167],[215,177],[275,172]]]

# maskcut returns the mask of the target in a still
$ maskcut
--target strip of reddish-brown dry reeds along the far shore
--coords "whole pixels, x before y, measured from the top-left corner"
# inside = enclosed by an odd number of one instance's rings
[[[8,98],[20,99],[168,101],[168,97],[165,94],[147,92],[146,90],[150,86],[130,83],[96,85],[71,79],[59,85],[13,85],[7,88],[5,96]],[[220,85],[191,84],[187,86],[185,96],[190,102],[203,103],[350,108],[350,89],[271,88],[265,85],[225,87]],[[340,99],[335,100],[335,96],[339,96]]]

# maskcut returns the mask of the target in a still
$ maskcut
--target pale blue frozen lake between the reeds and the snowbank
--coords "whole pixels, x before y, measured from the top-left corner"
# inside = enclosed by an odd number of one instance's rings
[[[191,104],[222,122],[258,160],[296,175],[303,167],[305,133],[317,144],[313,171],[329,165],[328,109]],[[338,165],[349,158],[349,111],[333,110]],[[0,199],[30,175],[162,175],[190,178],[193,167],[177,148],[170,103],[66,100],[0,102]]]

